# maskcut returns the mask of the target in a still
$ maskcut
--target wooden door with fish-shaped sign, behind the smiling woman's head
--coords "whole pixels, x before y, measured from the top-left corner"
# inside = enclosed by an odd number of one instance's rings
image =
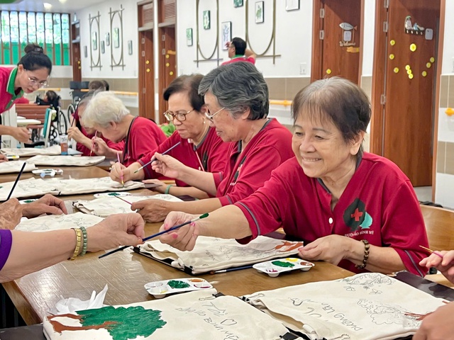
[[[361,0],[314,0],[311,81],[360,80]]]

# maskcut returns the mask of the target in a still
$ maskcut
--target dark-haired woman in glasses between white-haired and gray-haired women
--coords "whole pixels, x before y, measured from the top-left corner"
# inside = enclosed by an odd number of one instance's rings
[[[189,195],[194,198],[209,197],[204,191],[189,187],[183,181],[176,180],[175,186],[162,183],[158,180],[162,174],[153,171],[151,164],[148,164],[155,152],[162,154],[179,143],[167,154],[182,164],[192,169],[214,173],[222,172],[226,167],[229,145],[216,135],[216,130],[210,128],[209,120],[205,117],[208,108],[204,97],[199,95],[199,84],[203,77],[201,74],[183,75],[170,83],[163,94],[165,101],[169,103],[169,110],[164,115],[167,120],[173,122],[176,131],[138,162],[127,168],[122,164],[112,166],[111,179],[121,181],[121,175],[123,181],[150,179],[145,183],[159,185],[153,188],[159,193],[171,193],[174,196]],[[145,164],[148,166],[140,169]]]

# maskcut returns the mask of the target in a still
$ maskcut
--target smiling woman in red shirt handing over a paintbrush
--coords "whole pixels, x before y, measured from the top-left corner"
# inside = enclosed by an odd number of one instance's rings
[[[341,78],[315,81],[295,96],[293,151],[265,186],[235,205],[161,242],[191,250],[198,235],[247,243],[283,227],[303,239],[300,255],[350,271],[423,276],[428,246],[419,202],[409,179],[388,159],[362,152],[370,103]],[[173,212],[162,229],[194,218]]]

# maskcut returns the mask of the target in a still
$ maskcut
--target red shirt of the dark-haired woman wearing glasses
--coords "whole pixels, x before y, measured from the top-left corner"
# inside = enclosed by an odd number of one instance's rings
[[[204,170],[207,172],[222,172],[226,168],[228,147],[230,143],[224,143],[218,135],[216,129],[209,128],[204,139],[197,145],[197,147],[189,143],[188,140],[182,139],[178,131],[175,131],[165,142],[163,142],[156,150],[146,154],[145,157],[139,159],[139,163],[144,165],[150,162],[155,152],[165,152],[170,147],[180,142],[174,149],[170,150],[167,154],[179,160],[184,165],[192,169]],[[201,169],[201,165],[204,169]],[[143,168],[145,171],[145,179],[159,179],[162,174],[151,169],[151,164]],[[175,179],[177,186],[187,186],[183,181]]]

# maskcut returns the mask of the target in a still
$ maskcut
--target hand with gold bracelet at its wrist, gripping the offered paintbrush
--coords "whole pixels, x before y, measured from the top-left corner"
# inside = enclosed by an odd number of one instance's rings
[[[145,223],[139,214],[110,215],[87,228],[87,251],[99,251],[117,246],[137,246],[143,243]]]

